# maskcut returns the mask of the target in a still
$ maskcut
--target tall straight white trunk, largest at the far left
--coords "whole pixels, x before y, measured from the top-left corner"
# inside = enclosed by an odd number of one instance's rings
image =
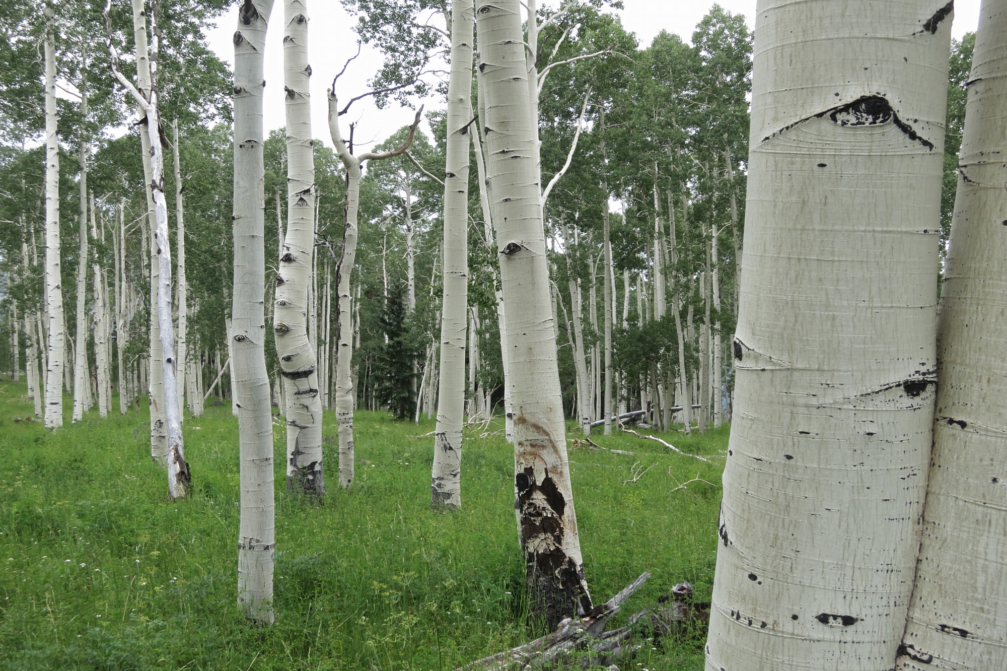
[[[45,305],[48,312],[45,427],[62,426],[65,326],[59,261],[59,140],[56,137],[55,10],[45,3]],[[41,333],[39,333],[41,336]]]

